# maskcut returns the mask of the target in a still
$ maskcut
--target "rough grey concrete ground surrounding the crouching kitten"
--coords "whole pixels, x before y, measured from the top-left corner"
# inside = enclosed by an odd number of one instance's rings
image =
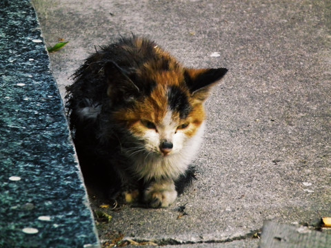
[[[35,0],[62,96],[94,45],[131,32],[184,65],[225,67],[206,108],[199,174],[168,209],[129,206],[99,224],[172,247],[257,247],[263,220],[331,216],[331,2]],[[212,56],[217,52],[219,56]],[[98,200],[91,199],[98,208]],[[185,205],[188,215],[179,216]]]

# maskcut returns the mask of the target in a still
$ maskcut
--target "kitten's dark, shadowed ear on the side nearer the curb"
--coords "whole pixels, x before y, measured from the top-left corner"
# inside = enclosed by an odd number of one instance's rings
[[[128,72],[123,70],[114,61],[108,61],[103,70],[108,83],[108,95],[113,94],[110,91],[117,89],[126,94],[138,94],[139,87],[130,79]],[[116,90],[115,90],[116,91]]]

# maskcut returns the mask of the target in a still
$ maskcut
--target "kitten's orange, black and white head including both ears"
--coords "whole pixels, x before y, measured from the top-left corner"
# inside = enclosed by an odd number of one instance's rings
[[[114,118],[141,141],[141,150],[157,156],[181,152],[197,134],[205,119],[203,103],[228,71],[188,69],[178,63],[165,69],[144,65],[130,72],[113,62],[105,67]]]

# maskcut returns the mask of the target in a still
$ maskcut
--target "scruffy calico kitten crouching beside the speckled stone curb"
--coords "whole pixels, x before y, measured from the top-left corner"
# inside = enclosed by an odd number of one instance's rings
[[[192,178],[203,103],[225,68],[185,68],[148,39],[90,55],[67,87],[70,129],[86,183],[128,203],[168,207]]]

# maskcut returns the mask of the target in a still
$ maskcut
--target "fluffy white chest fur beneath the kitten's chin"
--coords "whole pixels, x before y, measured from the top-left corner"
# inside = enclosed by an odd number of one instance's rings
[[[132,170],[139,178],[148,181],[170,178],[176,180],[188,169],[200,147],[205,123],[202,123],[197,133],[188,138],[180,150],[174,150],[166,156],[159,152],[137,154],[132,158]]]

